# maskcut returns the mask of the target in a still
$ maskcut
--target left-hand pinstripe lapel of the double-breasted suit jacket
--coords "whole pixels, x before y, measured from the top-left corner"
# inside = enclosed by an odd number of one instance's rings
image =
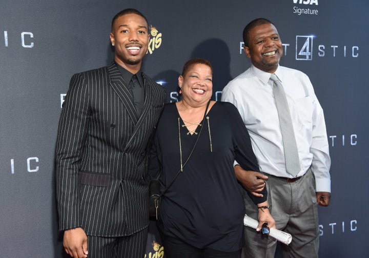
[[[128,83],[125,82],[116,67],[115,63],[112,62],[108,65],[108,71],[110,75],[110,85],[114,89],[115,93],[118,95],[122,103],[125,105],[129,116],[131,117],[133,123],[137,126],[138,115],[136,112],[135,104],[133,102],[133,96],[131,91],[128,89]]]

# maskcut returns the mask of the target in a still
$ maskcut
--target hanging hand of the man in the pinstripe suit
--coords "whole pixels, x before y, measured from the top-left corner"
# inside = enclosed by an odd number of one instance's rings
[[[82,228],[73,228],[64,231],[64,250],[73,258],[86,258],[87,235]]]

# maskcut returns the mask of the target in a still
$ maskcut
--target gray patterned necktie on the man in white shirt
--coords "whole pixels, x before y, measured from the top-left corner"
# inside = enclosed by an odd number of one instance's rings
[[[270,78],[273,81],[274,101],[277,106],[279,126],[282,133],[286,170],[289,174],[297,176],[301,170],[300,158],[287,98],[283,90],[283,86],[279,82],[277,76],[273,73]]]

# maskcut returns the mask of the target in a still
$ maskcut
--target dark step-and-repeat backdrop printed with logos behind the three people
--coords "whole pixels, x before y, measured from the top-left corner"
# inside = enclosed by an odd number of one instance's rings
[[[283,66],[310,76],[324,109],[332,200],[319,207],[320,256],[363,257],[369,211],[367,0],[11,1],[0,3],[0,256],[63,257],[57,233],[54,150],[72,74],[113,59],[112,17],[125,8],[153,27],[144,71],[178,100],[191,57],[214,66],[213,99],[250,66],[242,30],[275,23]],[[367,254],[366,254],[367,255]],[[146,257],[165,250],[150,224]],[[278,256],[278,255],[277,255]],[[364,255],[365,256],[365,255]]]

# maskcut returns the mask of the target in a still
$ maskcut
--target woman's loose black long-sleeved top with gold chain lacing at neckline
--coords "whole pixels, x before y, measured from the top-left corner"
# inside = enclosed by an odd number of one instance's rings
[[[183,172],[162,197],[159,224],[194,247],[237,251],[242,246],[245,193],[236,180],[234,160],[246,170],[259,171],[249,133],[235,106],[224,102],[210,109],[200,134],[188,134],[182,125],[175,103],[166,104],[149,171],[152,177],[161,173],[161,190],[180,169],[180,152],[185,163],[200,136]],[[262,198],[253,196],[255,204],[267,200],[266,190],[263,193]]]

